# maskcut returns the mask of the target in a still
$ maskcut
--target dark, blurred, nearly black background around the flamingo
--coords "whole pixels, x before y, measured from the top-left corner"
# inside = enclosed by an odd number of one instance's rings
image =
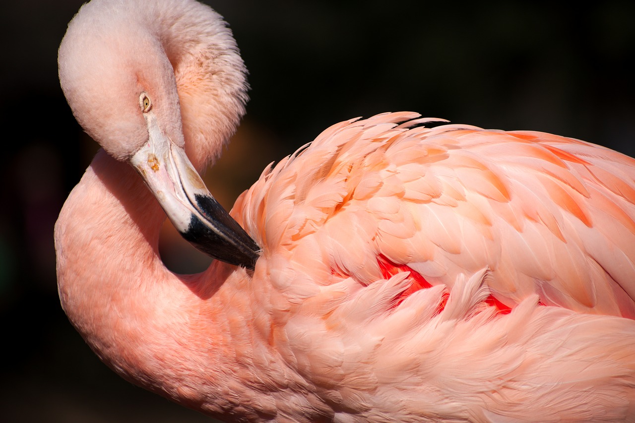
[[[209,421],[119,379],[58,302],[53,224],[97,151],[57,79],[57,47],[82,3],[0,4],[0,420]],[[548,131],[635,155],[632,1],[208,3],[250,69],[247,116],[206,175],[226,208],[324,128],[385,111]],[[163,239],[171,269],[208,265],[169,225]]]

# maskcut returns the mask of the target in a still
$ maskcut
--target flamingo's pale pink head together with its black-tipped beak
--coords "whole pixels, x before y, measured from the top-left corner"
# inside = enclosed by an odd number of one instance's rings
[[[246,101],[244,65],[220,15],[194,0],[93,0],[70,22],[58,66],[79,124],[137,169],[184,238],[253,267],[258,246],[197,172],[220,155]]]

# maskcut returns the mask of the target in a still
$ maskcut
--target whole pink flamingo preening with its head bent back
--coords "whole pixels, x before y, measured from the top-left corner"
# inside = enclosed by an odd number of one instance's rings
[[[391,112],[230,215],[198,173],[247,99],[215,11],[93,0],[58,64],[103,147],[55,226],[60,302],[124,379],[227,421],[635,422],[634,159]],[[218,260],[166,269],[166,215]]]

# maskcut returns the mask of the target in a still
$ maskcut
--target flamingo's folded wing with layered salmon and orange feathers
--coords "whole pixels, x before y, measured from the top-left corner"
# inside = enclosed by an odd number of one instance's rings
[[[537,294],[635,317],[634,159],[540,132],[411,128],[417,117],[336,124],[265,170],[237,203],[264,254],[318,285],[410,272],[406,294],[486,268],[500,309]]]

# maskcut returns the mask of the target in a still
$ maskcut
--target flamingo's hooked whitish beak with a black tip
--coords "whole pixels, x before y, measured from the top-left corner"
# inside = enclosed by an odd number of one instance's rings
[[[130,159],[178,232],[210,257],[253,269],[260,248],[211,196],[182,147],[152,114],[149,139]]]

